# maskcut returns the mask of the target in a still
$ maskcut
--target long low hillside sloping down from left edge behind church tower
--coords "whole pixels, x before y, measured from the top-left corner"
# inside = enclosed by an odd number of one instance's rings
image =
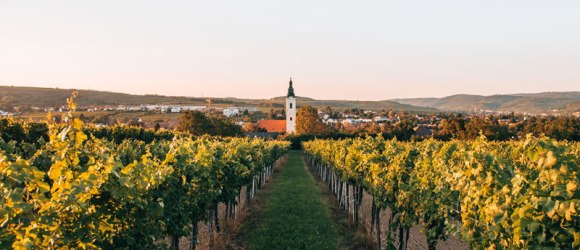
[[[0,86],[0,109],[12,110],[16,106],[57,107],[66,104],[71,89],[34,88]],[[115,92],[79,90],[79,105],[139,105],[139,104],[181,104],[205,105],[206,99],[212,100],[216,107],[256,106],[262,109],[283,108],[285,97],[272,99],[238,99],[238,98],[199,98],[162,95],[131,95]],[[436,112],[434,108],[415,107],[393,101],[347,101],[347,100],[314,100],[298,97],[299,106],[330,106],[332,109],[344,110],[361,108],[365,110],[395,110],[408,112]]]

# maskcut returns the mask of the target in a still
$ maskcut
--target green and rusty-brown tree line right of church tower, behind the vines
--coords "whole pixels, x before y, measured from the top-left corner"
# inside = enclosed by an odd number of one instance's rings
[[[580,141],[580,117],[575,116],[475,116],[462,114],[438,115],[439,120],[420,120],[416,116],[398,117],[395,122],[370,122],[356,128],[345,128],[342,124],[327,125],[318,116],[317,109],[305,106],[298,111],[296,130],[299,135],[324,138],[350,138],[367,135],[382,135],[403,141],[426,138],[449,141],[452,139],[474,140],[481,134],[489,140],[508,141],[525,138],[527,134],[545,135],[557,140]],[[419,126],[428,127],[426,135],[416,131]]]

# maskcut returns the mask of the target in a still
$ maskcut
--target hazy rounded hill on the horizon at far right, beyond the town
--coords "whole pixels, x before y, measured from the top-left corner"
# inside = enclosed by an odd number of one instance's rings
[[[391,101],[446,111],[513,111],[540,113],[565,109],[580,101],[580,92],[545,92],[511,95],[452,95],[443,98],[405,98]]]

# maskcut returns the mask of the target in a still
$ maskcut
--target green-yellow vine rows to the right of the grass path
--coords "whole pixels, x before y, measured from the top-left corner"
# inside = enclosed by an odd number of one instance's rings
[[[377,249],[406,249],[417,224],[429,249],[452,235],[473,249],[580,247],[578,143],[369,137],[303,146],[355,225],[375,235]],[[364,214],[368,195],[372,209]]]

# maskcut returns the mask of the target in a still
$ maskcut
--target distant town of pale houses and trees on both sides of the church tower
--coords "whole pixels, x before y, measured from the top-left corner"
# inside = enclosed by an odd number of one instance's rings
[[[262,109],[263,110],[263,109]],[[31,107],[30,112],[36,113],[59,113],[66,112],[66,106],[60,107]],[[262,122],[268,119],[283,120],[286,118],[285,110],[270,109],[261,111],[258,107],[212,107],[211,105],[167,105],[167,104],[142,104],[142,105],[86,105],[78,106],[76,110],[86,122],[94,122],[99,126],[126,124],[153,128],[156,124],[165,129],[174,129],[178,123],[178,115],[187,111],[199,111],[205,114],[219,115],[234,121],[242,126],[246,132],[283,133],[280,127]],[[378,133],[389,127],[395,128],[401,124],[410,126],[413,136],[430,137],[442,130],[442,121],[445,123],[456,114],[449,112],[437,112],[433,114],[412,114],[396,111],[371,111],[363,109],[333,110],[330,107],[317,109],[321,121],[336,131],[344,133]],[[95,115],[91,115],[95,114]],[[140,116],[155,115],[156,120],[144,120]],[[0,110],[0,116],[26,117],[26,113]],[[103,116],[119,116],[124,118],[107,120],[99,119]],[[473,119],[493,121],[507,128],[522,126],[529,119],[548,119],[559,117],[559,114],[515,114],[513,112],[498,112],[491,110],[479,110],[471,114],[460,114],[462,120],[469,122]],[[580,112],[572,114],[580,117]],[[42,120],[43,117],[37,118]],[[58,118],[53,118],[58,119]],[[410,132],[410,131],[409,131]]]

